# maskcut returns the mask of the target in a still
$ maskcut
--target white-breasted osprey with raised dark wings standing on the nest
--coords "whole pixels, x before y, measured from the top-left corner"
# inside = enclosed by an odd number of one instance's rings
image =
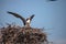
[[[14,15],[15,18],[20,18],[23,21],[23,24],[25,26],[30,26],[30,23],[31,23],[32,19],[34,18],[34,14],[28,19],[24,19],[23,16],[19,15],[18,13],[13,13],[13,12],[9,12],[9,11],[8,11],[8,13]]]

